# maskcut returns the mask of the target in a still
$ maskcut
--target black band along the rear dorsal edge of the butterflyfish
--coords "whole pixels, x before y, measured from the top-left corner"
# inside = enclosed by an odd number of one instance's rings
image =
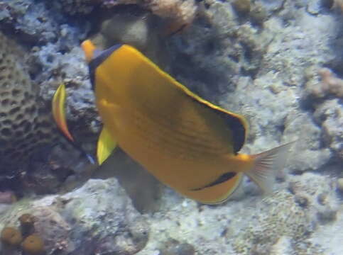
[[[232,140],[234,142],[234,154],[237,154],[241,147],[244,145],[245,136],[246,136],[246,129],[244,128],[244,123],[241,122],[241,120],[234,115],[231,115],[229,113],[225,113],[224,111],[220,111],[214,108],[211,108],[210,106],[207,106],[205,103],[202,103],[198,101],[196,98],[193,98],[190,96],[193,101],[200,103],[203,107],[208,107],[211,109],[214,113],[219,115],[219,117],[224,120],[224,123],[229,127],[230,130],[232,130]]]

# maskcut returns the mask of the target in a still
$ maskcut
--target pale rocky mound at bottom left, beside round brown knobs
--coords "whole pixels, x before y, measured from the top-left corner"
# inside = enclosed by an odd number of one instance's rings
[[[133,255],[148,241],[146,220],[115,179],[91,180],[62,196],[16,203],[0,214],[0,229],[18,225],[19,217],[34,217],[34,233],[18,242],[29,254],[44,244],[46,254]]]

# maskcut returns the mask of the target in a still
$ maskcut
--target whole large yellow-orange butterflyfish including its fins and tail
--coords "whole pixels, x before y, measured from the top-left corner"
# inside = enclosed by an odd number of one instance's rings
[[[97,52],[86,40],[82,48],[104,123],[100,163],[119,145],[167,186],[206,204],[227,200],[244,174],[271,190],[291,143],[239,154],[248,130],[243,116],[193,94],[134,47]]]

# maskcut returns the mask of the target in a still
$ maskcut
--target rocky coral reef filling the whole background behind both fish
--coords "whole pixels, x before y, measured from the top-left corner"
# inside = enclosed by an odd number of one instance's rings
[[[340,0],[0,1],[0,229],[22,232],[1,237],[0,254],[343,254],[342,24]],[[296,140],[275,193],[245,179],[226,203],[200,205],[123,152],[102,173],[63,145],[43,111],[61,81],[89,153],[101,126],[80,48],[89,37],[135,45],[246,116],[244,153]],[[23,157],[33,151],[43,159]]]

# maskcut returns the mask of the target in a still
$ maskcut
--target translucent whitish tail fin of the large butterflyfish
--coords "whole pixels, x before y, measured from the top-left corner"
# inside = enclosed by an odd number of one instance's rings
[[[294,142],[288,142],[285,145],[253,155],[254,167],[246,172],[246,175],[262,188],[263,191],[270,193],[273,191],[276,172],[285,166],[288,151],[293,144]]]

